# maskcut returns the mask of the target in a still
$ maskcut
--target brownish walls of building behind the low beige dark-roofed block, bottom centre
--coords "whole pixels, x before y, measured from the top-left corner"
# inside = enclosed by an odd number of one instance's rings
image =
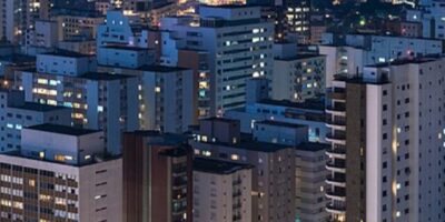
[[[258,147],[261,144],[259,143]],[[241,147],[194,142],[195,153],[255,165],[253,172],[253,219],[295,221],[295,153],[293,149],[275,152],[249,151]],[[270,163],[274,164],[270,164]],[[273,185],[273,188],[271,188]],[[260,198],[259,198],[260,195]]]

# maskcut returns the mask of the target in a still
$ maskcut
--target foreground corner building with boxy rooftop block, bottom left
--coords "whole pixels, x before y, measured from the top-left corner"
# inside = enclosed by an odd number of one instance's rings
[[[20,152],[0,154],[2,221],[121,221],[122,162],[103,155],[101,131],[40,124],[21,137]]]

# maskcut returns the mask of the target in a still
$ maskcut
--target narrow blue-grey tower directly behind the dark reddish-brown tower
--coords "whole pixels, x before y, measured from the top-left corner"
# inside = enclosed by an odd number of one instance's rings
[[[140,127],[182,133],[197,123],[194,72],[189,69],[147,65],[140,75]]]

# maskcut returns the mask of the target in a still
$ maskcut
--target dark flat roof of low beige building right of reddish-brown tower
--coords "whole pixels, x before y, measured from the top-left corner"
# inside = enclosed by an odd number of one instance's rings
[[[212,174],[231,174],[239,170],[251,169],[251,165],[234,163],[221,160],[195,158],[194,171],[212,173]]]

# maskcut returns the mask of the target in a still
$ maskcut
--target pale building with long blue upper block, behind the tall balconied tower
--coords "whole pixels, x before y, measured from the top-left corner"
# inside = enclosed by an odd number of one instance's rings
[[[375,34],[326,33],[319,46],[319,53],[326,54],[326,88],[338,73],[354,75],[366,65],[442,52],[442,40]]]

